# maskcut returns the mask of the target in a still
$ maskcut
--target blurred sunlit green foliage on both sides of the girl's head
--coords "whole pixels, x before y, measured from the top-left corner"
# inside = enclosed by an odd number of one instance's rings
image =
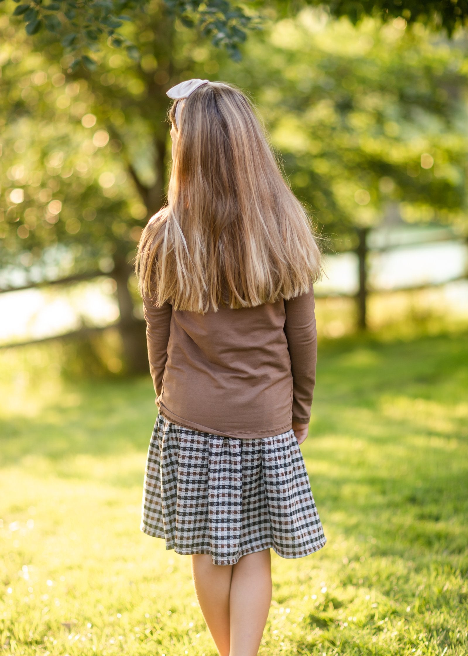
[[[35,279],[133,258],[165,197],[165,91],[193,76],[250,90],[334,249],[385,212],[466,229],[463,38],[408,33],[398,20],[354,28],[307,9],[249,39],[234,63],[159,9],[130,27],[139,62],[108,47],[99,71],[67,75],[57,44],[37,52],[0,16],[4,268]]]

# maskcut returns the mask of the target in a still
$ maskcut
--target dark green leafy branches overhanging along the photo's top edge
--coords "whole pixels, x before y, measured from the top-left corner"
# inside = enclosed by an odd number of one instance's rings
[[[283,14],[294,14],[304,4],[319,6],[331,16],[347,16],[353,24],[366,16],[380,20],[399,17],[405,23],[418,22],[433,30],[445,30],[448,35],[465,25],[468,16],[467,0],[452,0],[451,3],[441,0],[380,0],[377,3],[366,0],[334,0],[331,3],[251,0],[241,4],[230,0],[205,0],[203,3],[199,0],[88,0],[86,3],[52,0],[47,5],[43,5],[42,0],[26,3],[14,0],[14,3],[16,7],[10,4],[11,9],[14,7],[12,15],[24,21],[28,35],[47,31],[50,41],[60,43],[65,52],[73,54],[71,72],[79,64],[95,70],[97,62],[92,53],[102,49],[106,37],[109,45],[126,49],[128,56],[138,60],[140,48],[136,41],[128,38],[125,24],[138,20],[142,13],[151,13],[156,5],[168,16],[196,30],[198,35],[210,37],[213,45],[224,47],[235,60],[241,57],[239,46],[246,39],[246,30],[260,27],[273,7]]]

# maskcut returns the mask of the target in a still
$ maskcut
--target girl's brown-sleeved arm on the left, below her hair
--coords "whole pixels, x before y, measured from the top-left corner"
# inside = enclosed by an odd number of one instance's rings
[[[162,306],[155,306],[150,298],[144,296],[143,313],[146,321],[149,371],[156,396],[159,397],[167,360],[172,305],[166,302]]]

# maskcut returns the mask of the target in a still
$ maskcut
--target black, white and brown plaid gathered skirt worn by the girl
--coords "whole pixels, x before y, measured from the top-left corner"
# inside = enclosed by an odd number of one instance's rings
[[[157,417],[144,478],[141,530],[215,565],[273,548],[301,558],[324,546],[294,432],[224,438]]]

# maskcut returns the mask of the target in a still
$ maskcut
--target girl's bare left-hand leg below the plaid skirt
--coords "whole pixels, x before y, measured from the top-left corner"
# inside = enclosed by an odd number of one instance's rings
[[[229,656],[229,588],[233,566],[213,565],[210,554],[192,556],[195,592],[220,656]]]

